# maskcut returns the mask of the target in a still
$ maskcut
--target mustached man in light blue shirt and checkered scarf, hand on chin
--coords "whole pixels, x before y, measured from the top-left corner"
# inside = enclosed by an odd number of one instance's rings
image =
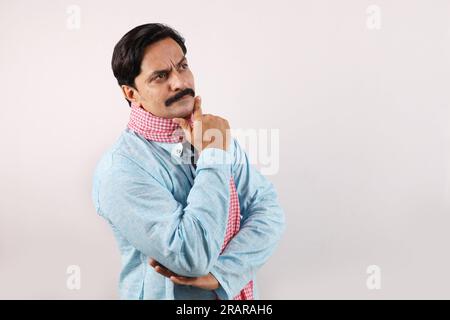
[[[96,167],[92,198],[122,255],[120,297],[257,299],[284,214],[228,122],[202,114],[184,42],[146,24],[114,48],[131,115]]]

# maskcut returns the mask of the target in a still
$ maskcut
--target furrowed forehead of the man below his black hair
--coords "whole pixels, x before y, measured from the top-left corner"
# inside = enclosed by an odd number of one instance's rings
[[[172,38],[165,38],[145,48],[141,70],[144,73],[169,68],[183,58],[183,50]]]

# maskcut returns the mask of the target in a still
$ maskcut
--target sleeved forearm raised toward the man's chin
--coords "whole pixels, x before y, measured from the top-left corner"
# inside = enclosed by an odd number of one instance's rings
[[[219,256],[228,218],[231,177],[230,166],[220,161],[224,156],[217,149],[202,152],[180,224],[165,239],[167,248],[175,254],[153,256],[180,275],[207,274]]]

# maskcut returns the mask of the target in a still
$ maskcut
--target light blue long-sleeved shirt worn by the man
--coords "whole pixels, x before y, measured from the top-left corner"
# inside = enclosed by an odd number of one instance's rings
[[[97,164],[92,199],[121,252],[121,299],[215,299],[213,291],[174,284],[154,271],[150,257],[180,275],[212,273],[222,300],[250,280],[259,298],[256,272],[285,230],[275,189],[235,139],[227,151],[203,150],[196,169],[191,155],[188,144],[149,141],[126,128]],[[231,175],[241,228],[220,254]]]

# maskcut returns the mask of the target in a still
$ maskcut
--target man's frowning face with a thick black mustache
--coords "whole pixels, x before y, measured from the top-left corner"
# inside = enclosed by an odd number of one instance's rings
[[[122,86],[125,96],[155,116],[188,118],[193,111],[194,76],[183,50],[172,38],[145,49],[135,85],[137,90]]]

